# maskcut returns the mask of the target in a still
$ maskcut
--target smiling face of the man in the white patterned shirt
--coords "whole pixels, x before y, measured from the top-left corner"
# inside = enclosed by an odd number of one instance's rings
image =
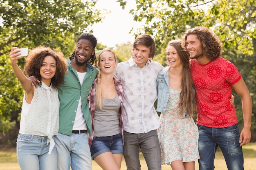
[[[149,59],[150,49],[144,45],[139,45],[133,49],[134,62],[138,67],[142,68]]]

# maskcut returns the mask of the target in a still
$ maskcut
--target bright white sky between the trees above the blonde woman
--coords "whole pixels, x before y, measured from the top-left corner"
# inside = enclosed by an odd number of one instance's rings
[[[99,9],[107,9],[111,11],[105,15],[105,19],[101,23],[92,26],[93,35],[98,42],[108,47],[115,47],[116,44],[124,42],[134,42],[135,37],[129,34],[132,27],[134,30],[142,27],[142,23],[133,21],[130,9],[135,9],[135,0],[128,0],[125,9],[119,5],[116,0],[98,0],[96,7]]]

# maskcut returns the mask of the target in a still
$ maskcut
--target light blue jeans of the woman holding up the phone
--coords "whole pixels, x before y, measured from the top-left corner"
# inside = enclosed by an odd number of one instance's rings
[[[54,137],[53,137],[54,139]],[[47,137],[19,134],[17,139],[17,159],[21,170],[56,170],[56,145],[51,155]]]

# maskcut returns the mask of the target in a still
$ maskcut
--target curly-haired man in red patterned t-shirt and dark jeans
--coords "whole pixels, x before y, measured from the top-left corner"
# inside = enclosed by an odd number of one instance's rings
[[[185,32],[182,46],[189,51],[195,83],[200,170],[214,169],[219,146],[229,170],[243,170],[242,146],[251,139],[252,99],[237,67],[221,57],[222,44],[210,29],[197,26]],[[244,127],[240,132],[232,89],[242,100]]]

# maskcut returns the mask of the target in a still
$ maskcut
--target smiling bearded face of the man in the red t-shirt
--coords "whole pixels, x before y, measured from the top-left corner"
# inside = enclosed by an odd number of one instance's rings
[[[200,57],[203,57],[202,52],[202,44],[200,40],[198,40],[197,35],[190,34],[186,38],[186,49],[189,51],[189,55],[191,59],[198,59]]]

